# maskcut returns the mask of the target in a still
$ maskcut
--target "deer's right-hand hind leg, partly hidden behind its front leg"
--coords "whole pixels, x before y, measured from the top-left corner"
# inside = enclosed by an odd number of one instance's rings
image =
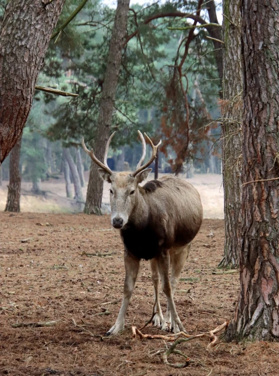
[[[184,247],[175,248],[170,250],[170,259],[171,259],[171,266],[172,266],[172,274],[171,274],[171,288],[172,288],[172,297],[174,296],[177,283],[179,281],[180,274],[184,268],[185,262],[188,258],[189,251],[190,251],[191,244],[187,244]],[[164,322],[162,324],[162,330],[172,330],[175,333],[179,331],[177,324],[173,317],[171,317],[171,311],[169,304],[167,305],[167,312],[164,316]]]

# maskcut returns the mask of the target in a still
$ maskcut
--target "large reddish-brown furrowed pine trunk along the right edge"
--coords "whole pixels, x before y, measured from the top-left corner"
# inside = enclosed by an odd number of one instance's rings
[[[243,245],[240,297],[227,338],[269,341],[279,339],[279,4],[242,0],[241,11]]]

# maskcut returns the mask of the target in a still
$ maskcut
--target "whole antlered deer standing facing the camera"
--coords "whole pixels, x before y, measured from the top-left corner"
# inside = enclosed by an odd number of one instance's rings
[[[148,162],[142,164],[146,156],[146,142],[138,131],[142,142],[142,157],[134,172],[113,172],[107,165],[109,137],[104,154],[104,163],[89,151],[84,139],[84,151],[99,166],[102,179],[110,185],[111,224],[120,230],[124,243],[125,282],[123,300],[115,324],[106,335],[115,335],[125,328],[125,317],[134,291],[140,260],[149,260],[151,280],[154,288],[153,325],[161,330],[185,331],[177,314],[174,293],[180,274],[188,258],[191,242],[201,228],[203,207],[200,194],[192,184],[179,177],[167,175],[140,185],[147,179],[152,168],[147,168],[156,158],[162,140],[154,145],[148,140],[152,154]],[[169,269],[171,277],[169,277]],[[163,316],[159,285],[167,298],[167,311]]]

